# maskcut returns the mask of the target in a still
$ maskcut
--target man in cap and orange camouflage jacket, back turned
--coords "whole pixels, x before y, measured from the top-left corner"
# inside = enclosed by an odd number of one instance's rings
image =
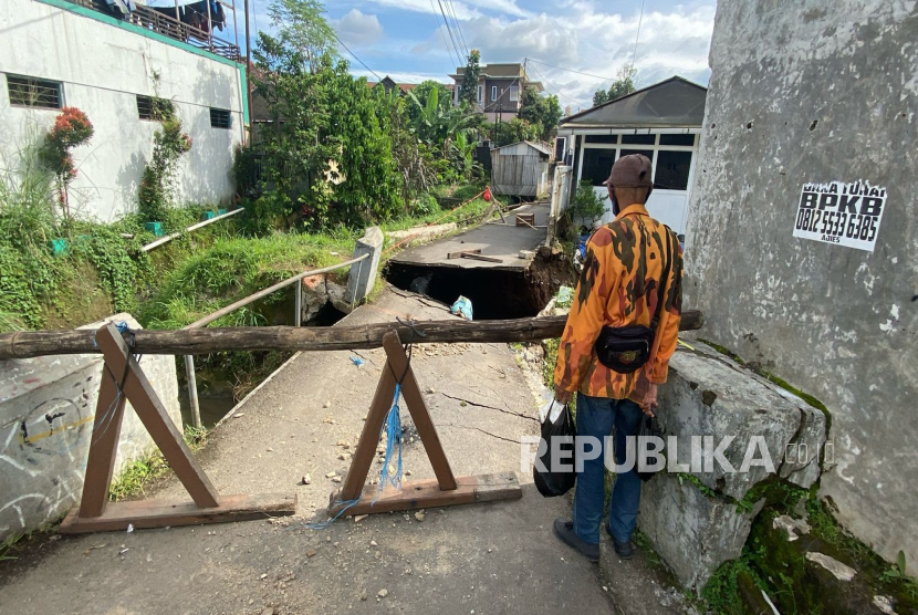
[[[614,427],[615,460],[624,463],[626,438],[635,435],[641,413],[654,416],[656,410],[657,385],[666,382],[676,351],[682,303],[678,238],[645,208],[653,190],[650,160],[623,156],[605,185],[615,220],[586,244],[554,371],[559,402],[567,404],[578,394],[577,436],[603,442],[602,455],[584,459],[577,472],[573,520],[554,522],[555,535],[592,562],[599,559],[606,436]],[[635,466],[616,476],[606,524],[623,560],[634,554],[639,501]]]

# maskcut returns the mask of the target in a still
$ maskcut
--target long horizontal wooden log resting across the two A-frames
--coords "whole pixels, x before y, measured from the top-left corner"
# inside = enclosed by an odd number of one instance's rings
[[[544,316],[507,321],[421,321],[427,333],[423,343],[532,342],[560,337],[567,316]],[[684,310],[681,331],[701,329],[698,310]],[[138,330],[135,351],[139,354],[209,354],[231,351],[346,351],[378,348],[383,335],[396,329],[407,336],[410,329],[396,323],[352,326],[230,326],[178,331]],[[92,330],[18,331],[0,334],[0,359],[54,354],[97,354]]]

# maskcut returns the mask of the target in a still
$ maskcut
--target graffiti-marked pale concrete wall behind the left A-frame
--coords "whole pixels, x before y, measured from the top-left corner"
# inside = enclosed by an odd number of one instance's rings
[[[126,321],[139,329],[129,314],[107,321]],[[174,357],[144,356],[140,366],[180,426]],[[56,521],[79,500],[102,367],[101,355],[0,361],[0,541]],[[115,476],[152,446],[127,404]]]

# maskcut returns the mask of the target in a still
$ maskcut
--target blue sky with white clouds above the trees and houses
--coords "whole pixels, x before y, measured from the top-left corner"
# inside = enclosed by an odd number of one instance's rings
[[[270,28],[269,2],[254,0],[260,29]],[[574,111],[591,106],[593,92],[608,87],[633,55],[639,87],[672,75],[707,84],[710,76],[716,0],[645,0],[643,18],[637,0],[330,0],[325,7],[347,48],[396,81],[450,82],[453,39],[462,55],[481,50],[482,64],[529,59],[530,79]],[[446,29],[441,7],[458,32]],[[354,74],[376,79],[341,52]]]

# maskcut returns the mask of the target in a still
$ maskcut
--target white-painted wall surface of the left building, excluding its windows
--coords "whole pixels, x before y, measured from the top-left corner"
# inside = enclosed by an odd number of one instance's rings
[[[0,72],[63,82],[63,103],[84,111],[95,127],[92,140],[74,150],[79,175],[71,207],[102,221],[136,209],[158,127],[138,118],[137,94],[171,100],[195,142],[180,164],[179,202],[230,199],[233,147],[244,131],[239,66],[76,10],[88,11],[36,0],[0,2]],[[210,106],[232,112],[231,129],[210,126]],[[6,76],[0,76],[0,166],[59,113],[11,106]]]

